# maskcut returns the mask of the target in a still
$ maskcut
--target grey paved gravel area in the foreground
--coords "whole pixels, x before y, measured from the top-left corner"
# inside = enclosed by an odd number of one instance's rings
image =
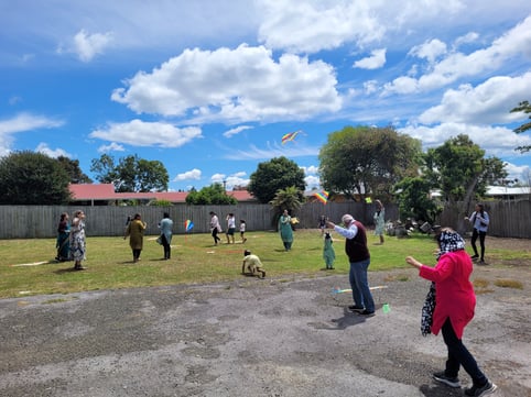
[[[431,379],[445,348],[420,333],[427,282],[414,269],[369,278],[387,288],[368,319],[332,294],[348,287],[332,272],[0,300],[0,396],[462,396]],[[496,396],[531,396],[529,269],[474,278],[487,283],[465,344]]]

